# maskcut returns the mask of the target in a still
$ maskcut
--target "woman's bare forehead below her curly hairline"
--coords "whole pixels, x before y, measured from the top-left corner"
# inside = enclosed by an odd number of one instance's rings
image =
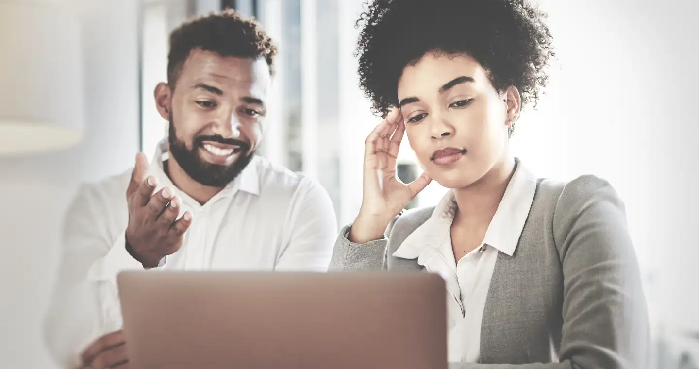
[[[471,85],[490,84],[487,72],[472,57],[430,52],[417,64],[403,68],[403,74],[398,80],[398,98],[438,94],[442,85],[463,76],[475,80],[475,84]]]

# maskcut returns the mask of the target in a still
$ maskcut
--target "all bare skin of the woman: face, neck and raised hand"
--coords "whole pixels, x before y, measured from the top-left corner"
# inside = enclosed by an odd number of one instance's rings
[[[366,140],[362,208],[349,239],[366,243],[381,238],[391,219],[434,179],[454,189],[459,210],[452,244],[458,261],[481,245],[514,172],[507,130],[517,122],[521,96],[514,87],[498,92],[475,59],[437,52],[403,69],[397,94],[400,109]],[[395,173],[404,132],[425,170],[410,184],[401,183]],[[433,154],[445,147],[466,154],[438,165]]]

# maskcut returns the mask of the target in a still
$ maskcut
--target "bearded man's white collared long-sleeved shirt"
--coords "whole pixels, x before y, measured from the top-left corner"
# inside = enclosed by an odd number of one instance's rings
[[[255,157],[238,178],[200,205],[163,171],[167,141],[149,175],[182,199],[180,215],[194,215],[178,252],[157,270],[310,270],[324,272],[337,236],[325,189]],[[116,275],[143,270],[124,247],[126,189],[131,171],[85,186],[66,217],[64,261],[47,321],[48,346],[66,366],[101,335],[122,326]]]

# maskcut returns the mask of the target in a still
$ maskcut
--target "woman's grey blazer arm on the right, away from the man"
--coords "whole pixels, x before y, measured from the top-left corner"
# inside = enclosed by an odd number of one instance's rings
[[[642,369],[649,325],[624,205],[607,182],[573,180],[554,212],[563,268],[560,363],[450,363],[449,369]]]

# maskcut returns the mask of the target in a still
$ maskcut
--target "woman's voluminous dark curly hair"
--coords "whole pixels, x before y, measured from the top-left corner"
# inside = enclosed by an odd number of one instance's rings
[[[355,55],[359,85],[386,116],[398,106],[403,68],[428,52],[468,55],[498,92],[514,86],[522,105],[536,103],[554,56],[547,15],[527,0],[375,0],[366,4]]]

